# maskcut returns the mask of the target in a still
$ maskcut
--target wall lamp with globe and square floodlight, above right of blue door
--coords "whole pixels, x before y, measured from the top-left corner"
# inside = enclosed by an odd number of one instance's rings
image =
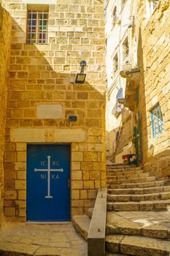
[[[80,63],[80,73],[77,73],[75,83],[85,83],[86,74],[84,73],[85,66],[89,60],[88,50],[80,50],[77,54],[77,61]]]

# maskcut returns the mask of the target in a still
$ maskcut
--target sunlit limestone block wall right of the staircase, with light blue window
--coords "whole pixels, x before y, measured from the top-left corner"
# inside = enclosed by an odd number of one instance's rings
[[[142,42],[139,86],[139,108],[142,112],[142,147],[144,168],[152,174],[170,175],[170,3],[158,2],[155,11],[146,19],[146,7],[139,9]],[[145,17],[145,18],[144,18]],[[163,113],[163,133],[152,138],[150,110],[159,102]]]

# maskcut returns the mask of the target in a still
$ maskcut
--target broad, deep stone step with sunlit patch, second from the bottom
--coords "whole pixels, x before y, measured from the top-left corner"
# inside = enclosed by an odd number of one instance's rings
[[[109,211],[106,233],[170,239],[170,212]]]

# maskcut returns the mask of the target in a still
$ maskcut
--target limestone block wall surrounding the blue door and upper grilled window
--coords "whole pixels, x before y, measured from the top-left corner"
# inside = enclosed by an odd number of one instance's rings
[[[103,4],[97,0],[50,4],[49,43],[31,45],[26,44],[26,4],[2,2],[13,18],[4,215],[26,220],[27,143],[71,143],[72,215],[83,214],[93,206],[97,189],[105,186]],[[90,53],[82,85],[73,83],[80,71],[76,56],[81,49]],[[78,120],[70,122],[69,115]]]

